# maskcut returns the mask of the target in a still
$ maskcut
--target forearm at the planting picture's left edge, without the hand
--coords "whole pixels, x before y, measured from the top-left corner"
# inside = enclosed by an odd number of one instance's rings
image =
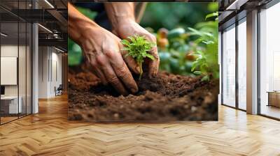
[[[71,3],[68,2],[68,31],[72,40],[80,44],[81,40],[87,35],[87,31],[92,29],[99,29],[100,26],[85,17],[80,13]]]

